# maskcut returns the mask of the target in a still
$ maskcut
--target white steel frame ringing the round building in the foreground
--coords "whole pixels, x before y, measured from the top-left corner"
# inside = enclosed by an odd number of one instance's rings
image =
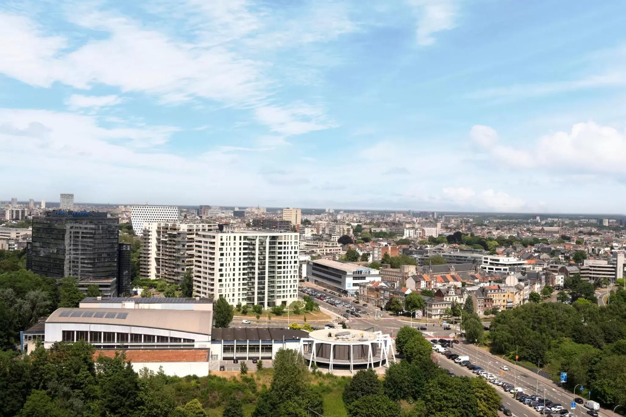
[[[349,358],[350,358],[350,373],[354,373],[354,365],[362,365],[362,364],[367,364],[367,368],[371,367],[374,368],[374,355],[372,354],[372,344],[376,344],[377,349],[380,352],[380,364],[381,366],[386,366],[387,368],[389,367],[389,354],[391,353],[391,358],[394,361],[394,363],[396,362],[396,355],[395,355],[395,349],[394,349],[394,339],[391,338],[391,336],[389,336],[389,334],[382,334],[382,331],[375,331],[372,332],[375,336],[376,339],[373,340],[367,340],[367,341],[354,341],[354,340],[347,340],[345,342],[342,341],[328,341],[328,340],[322,340],[322,339],[316,339],[316,338],[302,338],[300,339],[300,353],[302,354],[302,356],[305,356],[305,353],[309,354],[310,353],[310,357],[309,357],[309,369],[311,368],[313,362],[318,362],[319,358],[317,357],[316,354],[316,345],[319,344],[329,344],[331,346],[331,353],[329,358],[323,358],[323,363],[328,363],[329,364],[329,372],[332,372],[333,370],[333,362],[332,362],[332,358],[333,358],[333,354],[334,354],[334,348],[335,346],[351,346],[351,349],[349,350]],[[360,346],[360,345],[365,345],[367,346],[367,361],[362,361],[362,360],[357,360],[356,362],[354,361],[354,355],[353,355],[353,349],[352,346]],[[310,346],[310,352],[305,352],[305,346]],[[384,361],[384,364],[383,364]],[[346,363],[342,363],[342,364],[346,364]]]

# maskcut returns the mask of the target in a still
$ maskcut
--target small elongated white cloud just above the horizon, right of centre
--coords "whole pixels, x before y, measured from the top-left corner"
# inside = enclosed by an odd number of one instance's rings
[[[526,203],[521,198],[510,196],[502,191],[486,189],[476,193],[472,188],[444,188],[444,198],[464,207],[477,209],[510,211],[523,208]]]

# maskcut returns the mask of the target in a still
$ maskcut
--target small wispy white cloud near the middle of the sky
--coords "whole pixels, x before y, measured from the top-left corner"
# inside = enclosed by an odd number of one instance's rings
[[[319,107],[295,103],[287,107],[260,106],[255,109],[255,117],[267,124],[276,133],[294,135],[324,130],[336,126],[328,120]]]

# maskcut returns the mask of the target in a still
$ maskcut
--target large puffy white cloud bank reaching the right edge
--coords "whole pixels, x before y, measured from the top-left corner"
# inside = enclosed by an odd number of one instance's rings
[[[472,133],[488,126],[474,126]],[[488,128],[491,129],[491,128]],[[493,131],[493,129],[491,129]],[[493,131],[486,153],[498,163],[519,168],[542,168],[558,173],[626,173],[626,132],[593,121],[577,123],[570,132],[546,134],[534,143],[507,146]]]

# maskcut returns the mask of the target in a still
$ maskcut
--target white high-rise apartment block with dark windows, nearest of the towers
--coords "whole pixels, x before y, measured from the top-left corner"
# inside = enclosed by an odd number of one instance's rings
[[[195,237],[193,293],[230,304],[289,304],[298,297],[299,234],[200,232]]]

